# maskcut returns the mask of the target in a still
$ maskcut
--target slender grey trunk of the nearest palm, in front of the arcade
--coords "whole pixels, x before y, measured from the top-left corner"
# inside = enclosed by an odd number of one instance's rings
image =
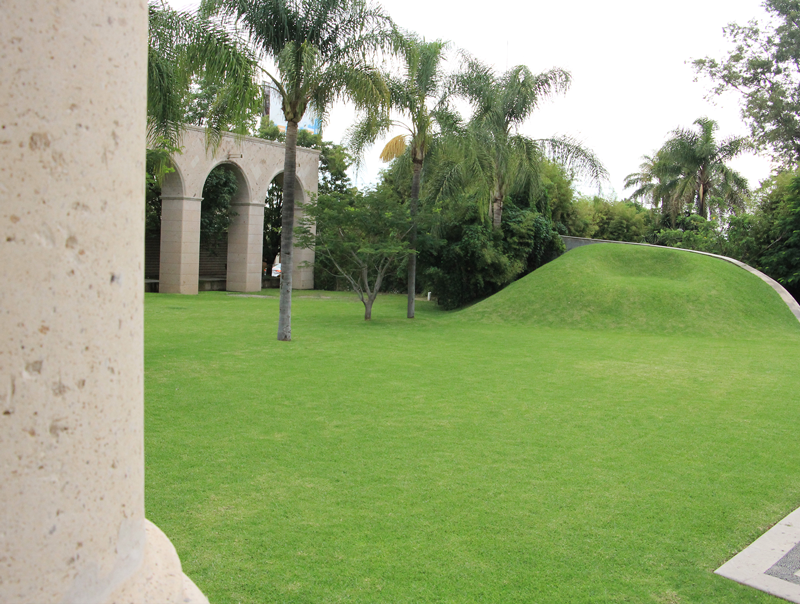
[[[281,299],[278,341],[292,339],[292,246],[294,244],[294,186],[297,180],[297,122],[286,124],[283,160],[283,207],[281,208]]]

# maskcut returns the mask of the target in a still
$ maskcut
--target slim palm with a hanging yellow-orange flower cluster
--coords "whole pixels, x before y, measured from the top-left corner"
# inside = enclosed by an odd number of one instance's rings
[[[442,61],[447,43],[441,40],[426,42],[415,34],[404,33],[400,39],[399,54],[403,60],[403,76],[398,78],[385,75],[391,95],[391,110],[399,117],[394,119],[387,111],[381,115],[368,114],[356,124],[349,135],[349,144],[357,157],[366,146],[375,142],[378,136],[392,129],[401,128],[405,132],[392,138],[381,151],[384,162],[397,159],[408,151],[411,158],[411,195],[409,212],[411,232],[409,242],[411,253],[408,256],[408,309],[406,316],[414,318],[414,299],[417,275],[417,211],[419,205],[420,182],[425,156],[432,144],[436,128],[436,113],[430,102],[441,104],[445,91],[445,75]]]

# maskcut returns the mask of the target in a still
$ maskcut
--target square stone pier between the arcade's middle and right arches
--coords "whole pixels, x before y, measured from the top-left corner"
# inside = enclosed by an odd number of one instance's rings
[[[232,203],[236,216],[228,229],[228,274],[225,289],[261,291],[264,203]]]

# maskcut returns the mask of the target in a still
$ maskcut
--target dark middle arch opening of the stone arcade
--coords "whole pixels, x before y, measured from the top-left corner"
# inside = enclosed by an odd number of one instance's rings
[[[236,212],[231,202],[239,190],[233,166],[220,164],[206,177],[200,205],[200,291],[224,290],[228,267],[228,230]]]

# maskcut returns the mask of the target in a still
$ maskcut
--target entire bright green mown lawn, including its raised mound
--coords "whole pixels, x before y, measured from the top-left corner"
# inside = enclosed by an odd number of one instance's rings
[[[212,604],[779,602],[712,572],[800,506],[800,324],[737,267],[589,246],[413,321],[295,292],[291,343],[277,298],[145,313],[147,515]]]

